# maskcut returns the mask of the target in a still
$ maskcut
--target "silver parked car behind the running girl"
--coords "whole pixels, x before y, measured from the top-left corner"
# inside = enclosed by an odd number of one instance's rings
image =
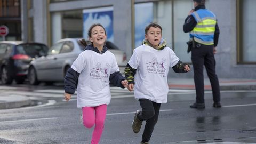
[[[83,52],[85,46],[81,43],[82,38],[65,38],[55,43],[46,56],[35,59],[30,63],[28,79],[29,83],[37,85],[40,82],[53,83],[63,82],[67,70]],[[85,41],[87,45],[90,41]],[[106,45],[116,59],[119,66],[126,65],[126,55],[116,45],[106,42]]]

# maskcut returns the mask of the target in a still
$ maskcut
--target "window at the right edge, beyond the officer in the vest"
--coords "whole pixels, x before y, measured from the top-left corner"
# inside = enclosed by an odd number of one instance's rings
[[[244,64],[256,63],[256,1],[237,0],[237,61]]]

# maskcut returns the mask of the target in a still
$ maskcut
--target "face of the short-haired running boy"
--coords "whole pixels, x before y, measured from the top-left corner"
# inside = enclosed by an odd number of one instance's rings
[[[156,48],[162,39],[161,29],[158,27],[157,28],[150,27],[147,34],[145,35],[145,39],[147,39],[149,43],[153,45],[154,48]]]

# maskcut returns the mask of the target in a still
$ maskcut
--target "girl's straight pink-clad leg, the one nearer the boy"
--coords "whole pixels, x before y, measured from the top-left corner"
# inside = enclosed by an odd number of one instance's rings
[[[92,144],[98,144],[104,129],[104,122],[107,113],[107,105],[95,107],[95,127],[92,134]]]

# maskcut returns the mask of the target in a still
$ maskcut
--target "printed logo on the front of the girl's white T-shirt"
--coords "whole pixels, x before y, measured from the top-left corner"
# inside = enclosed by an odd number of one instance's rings
[[[109,64],[106,63],[104,67],[102,67],[102,63],[98,62],[94,68],[91,68],[90,76],[92,79],[108,79],[109,73]]]

